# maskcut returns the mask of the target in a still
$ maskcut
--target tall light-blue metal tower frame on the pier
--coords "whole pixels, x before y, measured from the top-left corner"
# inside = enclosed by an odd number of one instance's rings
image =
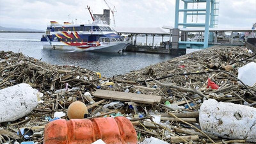
[[[180,1],[184,2],[184,9],[180,9]],[[189,8],[189,3],[205,3],[205,8]],[[204,5],[204,4],[201,4]],[[216,28],[218,25],[218,0],[176,0],[175,5],[175,26],[173,29],[173,48],[179,48],[179,44],[195,44],[195,45],[204,45],[204,48],[208,47],[208,42],[212,41],[213,33],[210,33],[209,38],[209,28]],[[179,13],[184,12],[183,22],[179,22]],[[188,15],[205,15],[204,23],[188,23]],[[179,26],[183,26],[183,28],[188,27],[196,27],[196,28],[204,28],[204,42],[187,42],[187,41],[179,41]]]

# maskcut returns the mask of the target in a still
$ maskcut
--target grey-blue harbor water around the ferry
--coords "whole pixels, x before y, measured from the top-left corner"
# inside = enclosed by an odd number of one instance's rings
[[[170,60],[174,57],[170,54],[145,54],[138,52],[123,52],[122,54],[118,54],[43,49],[40,42],[42,34],[43,33],[1,33],[0,51],[22,52],[26,56],[53,65],[80,66],[88,70],[100,72],[104,77],[139,70],[148,65]],[[145,38],[145,36],[141,37],[143,38],[138,37],[137,42]],[[155,42],[161,42],[161,40],[161,36],[155,37]]]

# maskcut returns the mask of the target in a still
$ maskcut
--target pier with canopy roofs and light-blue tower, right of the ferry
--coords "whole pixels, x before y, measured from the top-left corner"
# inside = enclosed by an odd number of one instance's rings
[[[183,9],[180,9],[180,3],[184,4]],[[117,33],[131,35],[131,45],[127,47],[128,51],[135,52],[156,52],[180,54],[186,49],[206,49],[213,45],[245,45],[247,38],[255,38],[255,25],[252,28],[218,28],[218,10],[220,10],[219,0],[198,0],[196,3],[205,3],[205,8],[189,8],[189,4],[194,4],[193,0],[176,0],[175,5],[175,26],[163,26],[161,28],[117,28]],[[182,22],[179,20],[180,13],[183,14]],[[188,15],[195,15],[196,22],[188,22]],[[198,15],[204,15],[204,22],[197,22]],[[181,28],[182,27],[182,28]],[[167,31],[164,31],[166,29]],[[254,30],[254,31],[253,31]],[[225,36],[225,33],[230,33],[230,36]],[[243,33],[243,36],[239,34]],[[134,44],[132,36],[137,35],[153,36],[152,47]],[[169,35],[169,48],[154,46],[155,35]],[[192,35],[192,36],[191,36]],[[193,37],[196,35],[197,37]],[[238,36],[238,38],[237,38]],[[242,38],[241,38],[242,37]],[[194,39],[193,39],[194,38]],[[163,40],[162,40],[163,44]],[[132,46],[133,45],[133,46]],[[151,50],[153,49],[153,50]],[[167,52],[169,51],[169,52]]]

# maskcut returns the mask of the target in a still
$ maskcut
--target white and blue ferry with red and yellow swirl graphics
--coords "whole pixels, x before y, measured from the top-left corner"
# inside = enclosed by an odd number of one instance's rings
[[[92,24],[59,24],[51,21],[41,38],[44,49],[63,49],[70,51],[120,52],[129,45],[127,38],[122,38],[102,20]]]

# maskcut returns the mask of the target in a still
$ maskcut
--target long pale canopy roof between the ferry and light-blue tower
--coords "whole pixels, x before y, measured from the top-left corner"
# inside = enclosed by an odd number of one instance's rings
[[[148,35],[170,35],[170,31],[163,28],[115,28],[116,33],[148,34]]]

